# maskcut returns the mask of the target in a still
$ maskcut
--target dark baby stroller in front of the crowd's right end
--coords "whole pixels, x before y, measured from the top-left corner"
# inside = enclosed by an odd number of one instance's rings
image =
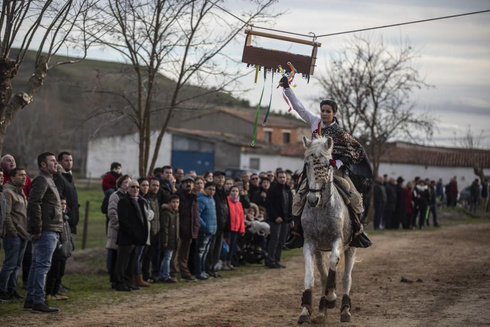
[[[257,246],[257,239],[264,239],[270,234],[270,226],[266,222],[254,220],[252,225],[245,229],[245,235],[238,240],[237,248],[233,253],[234,266],[247,263],[262,264],[267,252]]]

